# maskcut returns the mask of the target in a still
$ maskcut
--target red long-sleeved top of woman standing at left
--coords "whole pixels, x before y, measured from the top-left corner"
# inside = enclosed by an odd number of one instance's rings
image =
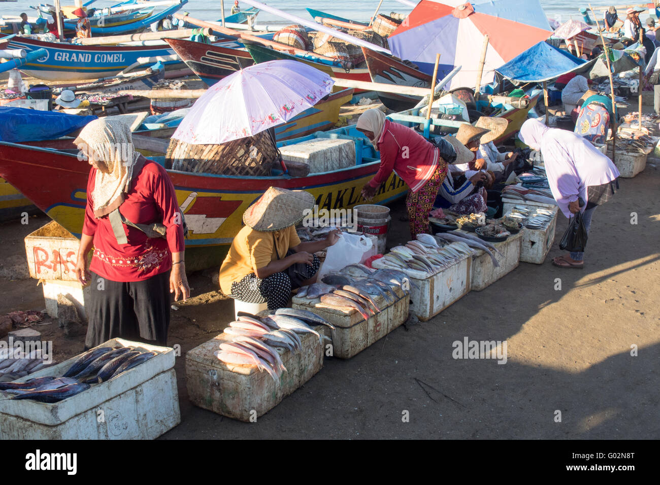
[[[122,224],[128,243],[119,245],[108,216],[94,217],[94,181],[96,169],[89,172],[87,207],[82,234],[94,236],[94,254],[90,271],[112,281],[143,281],[172,268],[171,253],[185,249],[182,216],[174,185],[162,166],[147,160],[119,212],[135,224],[160,222],[167,228],[167,239],[147,238],[137,228]],[[175,224],[179,222],[179,224]]]

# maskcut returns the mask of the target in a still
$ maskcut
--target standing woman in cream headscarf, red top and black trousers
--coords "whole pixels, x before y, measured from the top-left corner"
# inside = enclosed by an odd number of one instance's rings
[[[91,283],[85,346],[114,337],[165,346],[170,293],[175,301],[190,295],[174,185],[135,151],[131,129],[119,120],[95,119],[74,143],[92,166],[75,269],[82,284]]]

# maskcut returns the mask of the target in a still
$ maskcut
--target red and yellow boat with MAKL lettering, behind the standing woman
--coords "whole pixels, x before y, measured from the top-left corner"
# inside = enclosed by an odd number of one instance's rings
[[[243,212],[268,187],[309,191],[319,209],[350,209],[364,202],[360,191],[378,171],[378,152],[354,126],[284,143],[290,145],[317,137],[354,139],[356,164],[305,178],[218,176],[168,170],[191,231],[185,241],[186,252],[195,254],[191,261],[198,261],[195,265],[186,265],[187,270],[211,267],[222,261],[228,245],[242,227]],[[78,160],[76,154],[0,143],[0,176],[77,237],[81,236],[88,174],[88,164]],[[35,180],[48,183],[34,183]],[[392,174],[374,197],[374,203],[391,202],[403,196],[406,190],[405,183]],[[188,256],[186,254],[186,258]]]

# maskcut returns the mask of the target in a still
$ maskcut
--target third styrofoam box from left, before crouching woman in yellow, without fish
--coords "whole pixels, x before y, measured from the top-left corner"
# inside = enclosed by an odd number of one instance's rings
[[[328,308],[322,305],[319,298],[308,300],[294,296],[292,307],[309,310],[319,317],[325,318],[335,326],[335,329],[323,327],[325,335],[332,339],[332,356],[340,359],[350,359],[365,348],[385,337],[408,319],[410,294],[394,288],[397,297],[394,302],[387,302],[383,296],[372,296],[381,311],[364,319],[356,309]]]

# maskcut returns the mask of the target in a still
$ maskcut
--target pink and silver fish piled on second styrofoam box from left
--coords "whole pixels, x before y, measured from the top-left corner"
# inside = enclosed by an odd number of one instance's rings
[[[291,352],[300,350],[302,340],[298,335],[306,333],[315,335],[319,338],[319,344],[323,344],[323,339],[327,337],[313,328],[317,325],[335,329],[312,311],[280,308],[265,317],[240,311],[238,319],[224,329],[232,340],[220,344],[220,350],[216,350],[214,355],[225,364],[256,366],[279,382],[286,368],[277,347]]]

